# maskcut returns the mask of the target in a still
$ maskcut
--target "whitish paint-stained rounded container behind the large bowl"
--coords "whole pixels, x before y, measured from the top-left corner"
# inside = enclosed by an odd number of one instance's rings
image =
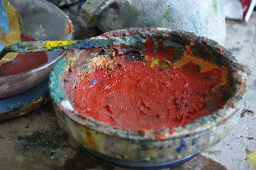
[[[225,43],[225,16],[219,0],[86,0],[79,15],[86,27],[168,27]]]

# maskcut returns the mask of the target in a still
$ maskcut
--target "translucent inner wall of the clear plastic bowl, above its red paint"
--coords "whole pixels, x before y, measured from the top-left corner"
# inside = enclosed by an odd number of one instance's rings
[[[72,31],[68,32],[70,20],[58,7],[45,0],[15,1],[10,3],[19,11],[22,33],[26,33],[36,40],[70,40]],[[62,52],[47,52],[49,62],[60,56]]]

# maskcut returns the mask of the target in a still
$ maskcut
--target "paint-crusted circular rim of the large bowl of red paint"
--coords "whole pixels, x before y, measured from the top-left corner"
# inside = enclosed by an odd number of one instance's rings
[[[186,31],[173,31],[171,29],[166,28],[129,28],[129,29],[120,29],[116,31],[110,31],[108,33],[115,34],[115,33],[133,33],[134,35],[136,33],[144,33],[148,35],[152,35],[153,33],[157,33],[160,35],[170,35],[170,36],[180,36],[180,38],[183,38],[184,40],[188,41],[189,43],[195,43],[195,44],[204,44],[208,47],[212,47],[213,50],[221,51],[221,56],[223,56],[225,59],[228,60],[228,63],[230,66],[232,66],[232,76],[236,80],[236,84],[234,84],[234,94],[231,98],[227,100],[227,104],[218,109],[217,111],[212,112],[209,116],[204,116],[202,118],[199,118],[198,120],[195,120],[193,123],[190,123],[189,125],[186,125],[185,127],[175,127],[175,128],[164,128],[163,130],[146,130],[146,131],[132,131],[132,130],[119,130],[116,127],[113,127],[112,125],[108,125],[104,122],[94,120],[93,118],[90,118],[88,116],[82,116],[81,114],[78,114],[74,112],[72,109],[72,105],[68,100],[65,100],[65,98],[57,98],[55,97],[54,102],[56,103],[57,107],[61,109],[63,114],[70,118],[72,121],[75,121],[76,123],[79,123],[83,127],[90,128],[92,130],[95,130],[96,132],[105,134],[105,135],[111,135],[115,137],[120,137],[124,139],[136,139],[136,140],[170,140],[180,137],[188,137],[189,135],[196,135],[196,134],[202,134],[208,129],[214,130],[214,128],[218,127],[219,125],[225,123],[229,118],[236,115],[236,112],[240,111],[241,104],[243,102],[243,99],[245,97],[246,89],[247,89],[247,83],[246,83],[246,73],[243,72],[243,66],[241,66],[236,58],[230,54],[230,52],[227,51],[224,47],[219,45],[217,42],[214,42],[213,40],[209,40],[204,37],[195,36],[193,33],[189,33]],[[108,34],[106,33],[106,34]],[[106,35],[104,34],[104,35]],[[106,36],[104,36],[106,38]],[[96,36],[93,37],[93,39],[97,38],[103,38],[103,36]],[[61,62],[61,61],[59,61]],[[62,61],[63,62],[63,61]],[[60,67],[60,65],[59,65]],[[62,68],[64,69],[64,65],[62,65]],[[58,66],[54,67],[54,70],[60,70]],[[52,77],[57,77],[58,82],[60,81],[60,72],[58,75],[54,73],[54,70],[51,73],[51,79]],[[52,79],[53,80],[53,79]],[[56,89],[56,86],[54,85],[54,81],[50,82],[50,92],[51,96],[54,91],[58,91],[62,89]],[[61,87],[59,87],[61,88]],[[56,94],[55,94],[56,95]],[[60,97],[60,96],[59,96]],[[53,98],[54,99],[54,98]]]

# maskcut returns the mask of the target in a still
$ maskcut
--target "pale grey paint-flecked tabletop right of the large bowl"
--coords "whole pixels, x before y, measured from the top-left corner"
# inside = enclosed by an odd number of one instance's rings
[[[202,154],[227,169],[253,169],[248,157],[256,151],[256,12],[248,23],[227,20],[227,26],[226,47],[245,65],[249,88],[237,125],[223,141]]]

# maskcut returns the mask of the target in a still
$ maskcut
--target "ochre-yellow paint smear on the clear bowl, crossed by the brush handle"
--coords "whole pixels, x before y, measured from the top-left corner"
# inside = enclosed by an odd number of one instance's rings
[[[0,29],[0,43],[4,45],[11,45],[13,43],[20,42],[20,27],[19,27],[19,12],[6,0],[3,0],[4,9],[9,19],[9,31],[8,35],[3,35],[3,31]],[[4,63],[8,63],[16,58],[18,53],[9,53],[0,60],[0,66]]]

